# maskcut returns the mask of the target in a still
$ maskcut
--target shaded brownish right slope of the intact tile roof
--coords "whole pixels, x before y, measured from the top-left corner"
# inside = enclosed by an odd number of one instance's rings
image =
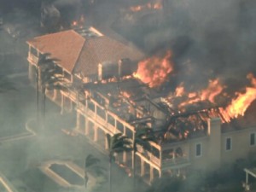
[[[124,58],[139,61],[143,58],[143,53],[131,45],[122,44],[106,36],[89,38],[84,43],[74,73],[82,73],[83,76],[94,75],[97,74],[99,63],[118,62]]]

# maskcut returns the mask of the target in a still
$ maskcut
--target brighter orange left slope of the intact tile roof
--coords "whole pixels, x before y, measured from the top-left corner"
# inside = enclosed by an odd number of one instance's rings
[[[79,54],[84,45],[84,38],[73,30],[56,32],[27,41],[34,48],[43,53],[50,53],[52,58],[69,73],[73,73],[73,68],[79,58]]]

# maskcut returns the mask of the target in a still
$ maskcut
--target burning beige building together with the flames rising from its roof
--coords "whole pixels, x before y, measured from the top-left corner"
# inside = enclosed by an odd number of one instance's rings
[[[136,157],[124,152],[116,158],[131,167],[136,158],[137,174],[149,176],[150,182],[189,168],[214,169],[256,152],[256,123],[234,123],[256,98],[253,74],[247,76],[247,88],[233,97],[219,79],[209,80],[200,91],[179,84],[166,93],[159,87],[174,73],[172,51],[143,59],[135,47],[92,27],[33,38],[27,44],[32,81],[38,57],[50,53],[59,59],[55,64],[67,82],[80,84],[83,94],[77,87],[49,94],[63,110],[76,113],[79,134],[107,149],[107,134],[120,132],[133,141],[139,125],[154,131],[157,142],[150,143],[150,150],[137,146]]]

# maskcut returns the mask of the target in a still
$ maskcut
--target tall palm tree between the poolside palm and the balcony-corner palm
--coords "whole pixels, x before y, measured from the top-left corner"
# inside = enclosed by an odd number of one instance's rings
[[[116,133],[113,136],[107,134],[108,139],[108,157],[109,157],[109,192],[112,191],[112,163],[114,154],[132,150],[131,140],[123,136],[122,133]]]

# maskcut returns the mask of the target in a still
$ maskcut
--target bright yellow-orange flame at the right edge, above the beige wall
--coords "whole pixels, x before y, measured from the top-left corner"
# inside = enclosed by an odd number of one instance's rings
[[[247,79],[251,80],[252,86],[246,87],[244,93],[236,92],[236,98],[230,102],[230,105],[227,108],[220,108],[224,121],[230,122],[231,119],[243,116],[247,108],[256,99],[256,79],[251,73],[247,75]]]

